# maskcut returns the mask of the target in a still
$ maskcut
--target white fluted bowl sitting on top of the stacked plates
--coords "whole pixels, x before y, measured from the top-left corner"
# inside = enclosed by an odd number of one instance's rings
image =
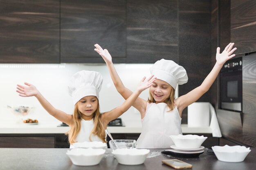
[[[185,149],[199,148],[207,139],[207,137],[198,135],[171,135],[170,137],[176,147]]]

